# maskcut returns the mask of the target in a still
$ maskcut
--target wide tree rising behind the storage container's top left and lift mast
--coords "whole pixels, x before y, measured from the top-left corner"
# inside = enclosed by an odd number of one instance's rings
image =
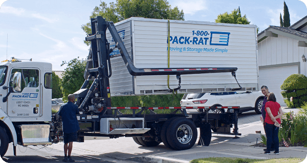
[[[130,17],[184,20],[183,10],[179,11],[177,6],[172,9],[166,0],[116,0],[116,4],[112,2],[109,6],[101,2],[90,18],[97,16],[114,23]],[[92,33],[90,22],[81,25],[81,28],[87,35]],[[84,43],[90,45],[90,42]]]

